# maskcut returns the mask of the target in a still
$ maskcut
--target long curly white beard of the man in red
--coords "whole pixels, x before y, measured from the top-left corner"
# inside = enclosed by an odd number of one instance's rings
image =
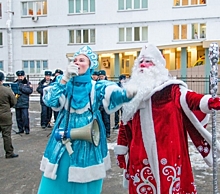
[[[135,87],[138,89],[135,97],[123,105],[122,121],[127,123],[137,112],[140,103],[149,95],[154,88],[170,79],[168,70],[161,66],[138,68],[134,66],[131,79],[123,87]]]

